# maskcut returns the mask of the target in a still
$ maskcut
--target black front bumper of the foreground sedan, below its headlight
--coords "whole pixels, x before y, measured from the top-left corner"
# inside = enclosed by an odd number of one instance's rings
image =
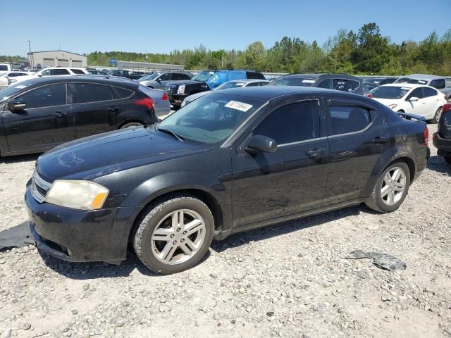
[[[95,211],[39,204],[25,193],[28,224],[39,249],[64,261],[123,261],[136,208]]]

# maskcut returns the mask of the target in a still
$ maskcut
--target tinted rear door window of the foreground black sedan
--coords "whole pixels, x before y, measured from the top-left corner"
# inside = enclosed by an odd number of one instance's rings
[[[369,109],[359,106],[330,106],[332,134],[347,134],[365,129],[371,123]]]

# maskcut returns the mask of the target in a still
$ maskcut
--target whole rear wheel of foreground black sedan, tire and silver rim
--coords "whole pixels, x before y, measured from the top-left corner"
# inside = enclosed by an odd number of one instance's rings
[[[383,171],[365,204],[380,213],[391,213],[400,207],[409,186],[409,166],[403,161],[394,162]]]

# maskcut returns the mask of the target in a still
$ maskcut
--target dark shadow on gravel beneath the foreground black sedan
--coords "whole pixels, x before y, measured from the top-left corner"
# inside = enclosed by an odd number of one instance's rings
[[[211,244],[211,250],[216,252],[222,252],[227,249],[236,248],[249,242],[257,242],[271,237],[288,234],[298,230],[307,229],[316,225],[326,224],[333,220],[340,220],[352,215],[359,215],[359,213],[376,213],[366,206],[350,206],[347,208],[338,209],[336,211],[330,211],[328,213],[321,213],[319,215],[311,215],[305,218],[298,218],[289,222],[279,223],[277,225],[271,225],[268,227],[261,227],[255,230],[249,230],[247,232],[241,232],[239,234],[233,234],[227,237],[221,242],[213,242]],[[73,280],[90,280],[95,278],[114,278],[114,277],[128,277],[134,270],[137,270],[142,275],[149,277],[161,277],[162,275],[154,273],[152,270],[146,268],[137,258],[136,254],[129,248],[127,253],[127,259],[120,265],[113,265],[109,263],[94,262],[94,263],[72,263],[61,261],[58,258],[42,253],[44,263],[65,277]],[[211,252],[202,258],[198,264],[202,264],[209,258]]]

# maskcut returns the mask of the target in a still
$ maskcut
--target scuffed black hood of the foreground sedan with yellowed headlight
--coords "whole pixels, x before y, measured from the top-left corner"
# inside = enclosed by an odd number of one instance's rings
[[[85,137],[57,146],[40,156],[44,179],[94,180],[121,170],[197,154],[203,146],[180,142],[153,127],[128,128]]]

